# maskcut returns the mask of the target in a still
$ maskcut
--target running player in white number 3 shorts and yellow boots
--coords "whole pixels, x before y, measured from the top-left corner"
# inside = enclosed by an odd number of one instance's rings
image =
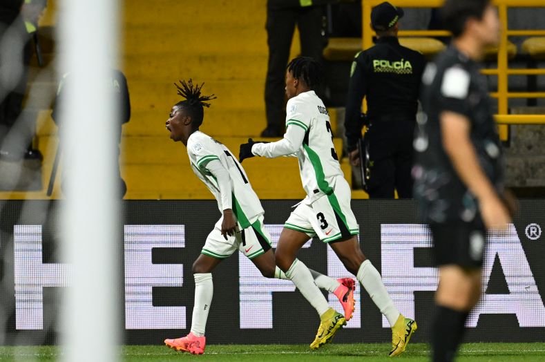
[[[329,244],[346,269],[354,274],[381,313],[392,326],[390,356],[401,354],[417,323],[396,309],[384,287],[379,272],[365,258],[357,235],[359,227],[350,209],[350,185],[345,180],[335,153],[329,115],[321,99],[314,93],[320,82],[318,62],[297,57],[287,66],[287,118],[283,140],[272,143],[248,140],[240,145],[240,161],[255,155],[276,158],[296,155],[303,188],[307,197],[298,204],[284,225],[276,249],[276,265],[298,287],[321,318],[316,339],[317,348],[330,341],[345,324],[343,316],[330,309],[314,283],[309,269],[296,258],[305,242],[317,236]]]

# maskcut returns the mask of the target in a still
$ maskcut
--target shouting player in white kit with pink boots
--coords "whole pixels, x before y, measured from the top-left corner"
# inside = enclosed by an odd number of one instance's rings
[[[195,304],[191,332],[182,338],[166,339],[164,343],[180,352],[204,353],[206,338],[204,328],[213,295],[213,269],[237,249],[247,256],[261,274],[267,278],[287,279],[276,267],[271,249],[271,237],[263,227],[264,211],[258,196],[251,188],[248,176],[231,151],[220,142],[199,131],[204,117],[204,107],[215,99],[214,95],[201,95],[200,86],[180,82],[178,94],[186,100],[173,106],[166,121],[166,129],[171,139],[181,141],[187,146],[191,169],[218,202],[222,217],[209,234],[200,256],[193,263],[195,278]],[[343,308],[347,319],[354,312],[354,280],[352,278],[333,279],[312,271],[315,283],[334,293]]]

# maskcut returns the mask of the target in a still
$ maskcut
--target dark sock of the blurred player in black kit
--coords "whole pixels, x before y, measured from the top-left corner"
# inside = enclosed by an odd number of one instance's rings
[[[463,337],[466,318],[468,318],[468,312],[437,306],[432,324],[433,362],[454,361]]]

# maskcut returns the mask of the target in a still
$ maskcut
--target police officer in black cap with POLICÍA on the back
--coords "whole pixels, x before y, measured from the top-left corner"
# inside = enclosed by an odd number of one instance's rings
[[[426,60],[399,45],[401,17],[403,10],[388,2],[374,7],[371,25],[378,36],[376,45],[358,53],[352,64],[345,117],[347,151],[353,166],[363,162],[363,186],[370,198],[394,198],[394,189],[400,198],[412,197],[412,138]],[[363,97],[367,117],[361,115]],[[365,123],[367,132],[359,146]]]

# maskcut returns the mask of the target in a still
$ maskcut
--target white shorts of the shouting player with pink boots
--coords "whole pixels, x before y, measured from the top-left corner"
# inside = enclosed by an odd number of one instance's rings
[[[223,217],[216,222],[214,229],[207,237],[201,254],[212,258],[224,259],[231,256],[237,249],[247,258],[253,259],[271,249],[271,236],[263,226],[263,216],[260,216],[250,227],[238,231],[234,236],[222,236]]]

